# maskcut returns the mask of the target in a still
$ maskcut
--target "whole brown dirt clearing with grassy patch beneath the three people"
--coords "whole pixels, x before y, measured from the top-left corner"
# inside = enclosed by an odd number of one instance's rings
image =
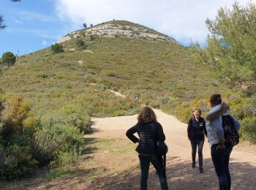
[[[218,180],[211,161],[206,139],[203,147],[203,166],[191,168],[191,147],[187,139],[187,124],[172,115],[154,110],[162,124],[167,153],[169,189],[218,189]],[[4,189],[140,189],[140,167],[135,144],[125,136],[135,125],[137,115],[113,118],[92,118],[94,133],[86,135],[89,149],[72,172],[55,180],[44,177],[23,180]],[[103,142],[102,142],[103,140]],[[256,147],[241,142],[230,156],[232,189],[256,189]],[[148,175],[148,189],[160,189],[154,167]]]

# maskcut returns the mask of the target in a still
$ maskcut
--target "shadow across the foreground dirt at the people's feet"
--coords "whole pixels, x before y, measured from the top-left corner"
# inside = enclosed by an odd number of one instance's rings
[[[167,158],[167,181],[169,189],[219,189],[219,183],[211,159],[204,160],[205,173],[198,167],[192,169],[190,162],[179,162],[178,158]],[[153,167],[148,175],[148,189],[160,189]],[[245,162],[230,162],[232,189],[256,189],[256,167]],[[96,178],[86,189],[140,189],[140,167],[125,172]]]

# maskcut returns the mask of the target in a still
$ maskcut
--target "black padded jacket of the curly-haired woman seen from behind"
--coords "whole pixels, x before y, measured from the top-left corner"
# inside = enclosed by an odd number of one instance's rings
[[[135,137],[135,133],[138,133],[138,137]],[[135,126],[132,126],[127,131],[127,137],[132,142],[139,142],[136,151],[142,155],[154,155],[156,152],[156,141],[165,141],[165,134],[162,130],[160,123],[156,121],[151,122],[138,122]]]

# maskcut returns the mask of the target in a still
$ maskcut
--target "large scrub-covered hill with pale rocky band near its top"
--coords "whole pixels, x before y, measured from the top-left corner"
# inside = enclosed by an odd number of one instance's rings
[[[76,45],[78,39],[86,48]],[[188,47],[135,23],[101,23],[67,34],[59,43],[63,53],[47,47],[20,56],[15,66],[1,66],[1,91],[29,99],[37,114],[72,105],[96,117],[136,113],[136,94],[141,104],[174,113],[197,97],[230,92],[208,66],[192,61]],[[116,99],[107,89],[127,99]]]

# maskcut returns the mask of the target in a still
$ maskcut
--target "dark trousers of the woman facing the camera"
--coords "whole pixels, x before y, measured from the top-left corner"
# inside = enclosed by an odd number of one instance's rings
[[[190,140],[192,147],[192,164],[195,166],[195,154],[198,147],[199,168],[203,169],[203,143],[204,140]]]

